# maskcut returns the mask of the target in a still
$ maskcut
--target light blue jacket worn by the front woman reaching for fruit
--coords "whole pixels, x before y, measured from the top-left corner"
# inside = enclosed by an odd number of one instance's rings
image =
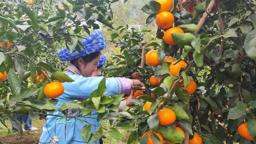
[[[94,90],[97,89],[98,84],[103,77],[95,76],[85,78],[80,75],[68,74],[74,82],[64,82],[64,94],[57,97],[59,100],[55,107],[58,109],[63,103],[68,101],[77,100],[78,98],[88,98]],[[114,96],[117,94],[124,94],[129,91],[130,87],[127,85],[127,81],[124,78],[107,78],[106,79],[107,95]],[[92,112],[93,113],[93,112]],[[96,113],[96,112],[95,112]],[[64,115],[62,112],[55,111],[50,114]],[[97,125],[97,119],[94,118],[82,118],[85,119],[83,123],[75,118],[60,118],[56,116],[47,116],[46,124],[43,126],[43,133],[39,140],[39,144],[49,143],[52,135],[59,136],[59,144],[81,144],[86,143],[81,137],[81,129],[86,124],[91,123]],[[87,123],[88,122],[88,123]],[[97,127],[91,126],[91,132],[95,131]],[[100,144],[99,141],[92,144]]]

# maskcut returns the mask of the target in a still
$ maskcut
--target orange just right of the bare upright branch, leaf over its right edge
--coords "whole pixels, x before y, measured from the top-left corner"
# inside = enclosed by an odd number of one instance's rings
[[[147,54],[146,54],[146,63],[148,63],[151,66],[158,66],[161,64],[161,62],[158,59],[158,51],[157,50],[150,50]]]

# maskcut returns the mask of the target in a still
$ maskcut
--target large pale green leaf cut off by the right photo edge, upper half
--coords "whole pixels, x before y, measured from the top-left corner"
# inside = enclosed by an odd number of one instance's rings
[[[245,52],[247,55],[256,60],[256,30],[252,30],[245,38]]]

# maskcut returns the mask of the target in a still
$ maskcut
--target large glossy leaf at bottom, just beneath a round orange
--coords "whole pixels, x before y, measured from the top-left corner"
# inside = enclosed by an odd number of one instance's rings
[[[184,134],[182,132],[172,128],[160,126],[158,132],[162,135],[162,137],[172,143],[181,143],[184,139]]]

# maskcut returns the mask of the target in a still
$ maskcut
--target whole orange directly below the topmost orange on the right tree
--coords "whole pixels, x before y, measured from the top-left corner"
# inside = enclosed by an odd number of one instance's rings
[[[156,25],[161,29],[170,28],[174,24],[174,16],[171,12],[163,11],[156,16]]]

